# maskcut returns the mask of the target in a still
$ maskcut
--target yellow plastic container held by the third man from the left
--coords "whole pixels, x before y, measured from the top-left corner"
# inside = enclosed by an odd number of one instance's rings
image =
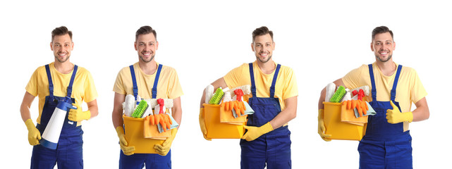
[[[209,139],[240,139],[245,133],[242,125],[232,125],[220,122],[220,106],[213,104],[204,105],[204,120]]]

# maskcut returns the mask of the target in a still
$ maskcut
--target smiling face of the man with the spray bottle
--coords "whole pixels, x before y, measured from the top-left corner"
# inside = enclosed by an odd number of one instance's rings
[[[73,48],[74,43],[68,34],[56,35],[53,41],[50,42],[50,49],[54,51],[55,60],[60,63],[68,61]]]

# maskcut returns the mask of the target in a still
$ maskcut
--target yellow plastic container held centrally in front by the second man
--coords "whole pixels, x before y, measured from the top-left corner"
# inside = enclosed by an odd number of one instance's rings
[[[135,146],[135,154],[157,154],[155,144],[162,144],[165,140],[146,139],[144,134],[144,119],[123,116],[124,130],[128,146]],[[156,130],[157,130],[157,125]]]

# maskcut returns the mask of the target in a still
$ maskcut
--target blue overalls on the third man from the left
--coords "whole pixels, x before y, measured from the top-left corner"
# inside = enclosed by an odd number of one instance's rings
[[[248,100],[254,114],[248,115],[248,126],[260,127],[276,117],[281,112],[279,99],[274,97],[276,77],[279,68],[276,66],[273,81],[270,87],[270,97],[257,97],[255,77],[250,63],[251,92],[252,98]],[[284,169],[291,168],[291,132],[287,126],[279,127],[276,130],[263,134],[261,137],[248,142],[240,139],[241,168],[261,168],[267,163],[267,168]]]

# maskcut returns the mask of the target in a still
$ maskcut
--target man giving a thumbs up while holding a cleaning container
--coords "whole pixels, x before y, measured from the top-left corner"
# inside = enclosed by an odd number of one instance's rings
[[[375,55],[374,63],[362,65],[334,81],[336,86],[348,89],[364,85],[372,89],[366,99],[377,115],[369,116],[366,134],[358,146],[360,168],[413,168],[408,123],[429,118],[427,92],[413,68],[393,62],[396,42],[388,27],[376,27],[372,31],[370,49]],[[325,93],[323,89],[319,99],[319,134],[330,141],[326,137],[331,136],[324,134]],[[411,112],[412,102],[416,108]]]

